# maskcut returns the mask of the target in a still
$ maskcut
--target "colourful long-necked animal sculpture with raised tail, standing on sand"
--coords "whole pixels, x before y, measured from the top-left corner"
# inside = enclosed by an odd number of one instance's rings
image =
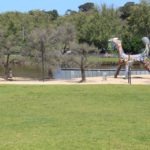
[[[119,53],[119,63],[116,73],[114,75],[115,78],[117,78],[123,65],[125,65],[125,78],[127,78],[129,65],[133,64],[134,62],[139,62],[143,64],[144,68],[150,72],[150,62],[147,60],[150,51],[150,41],[147,37],[143,37],[142,41],[145,44],[145,49],[143,50],[143,52],[136,55],[128,55],[124,52],[122,48],[121,40],[119,40],[118,38],[112,38],[109,40],[109,42],[115,45]]]

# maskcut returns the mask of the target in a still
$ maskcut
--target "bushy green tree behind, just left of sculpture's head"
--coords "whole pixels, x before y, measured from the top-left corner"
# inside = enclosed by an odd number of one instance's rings
[[[108,39],[121,35],[122,23],[118,12],[102,5],[94,13],[80,13],[77,21],[79,42],[94,43],[99,49],[107,48]]]

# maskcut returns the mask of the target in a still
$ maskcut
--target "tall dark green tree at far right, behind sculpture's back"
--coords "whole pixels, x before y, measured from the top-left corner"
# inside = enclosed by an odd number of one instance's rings
[[[150,36],[150,4],[145,0],[130,7],[130,15],[126,18],[121,36],[124,50],[133,54],[140,53],[143,36]]]

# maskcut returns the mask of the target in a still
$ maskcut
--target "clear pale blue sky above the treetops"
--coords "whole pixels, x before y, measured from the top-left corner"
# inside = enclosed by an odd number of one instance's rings
[[[119,7],[127,2],[139,3],[140,0],[0,0],[0,13],[7,11],[28,12],[30,10],[53,10],[56,9],[60,15],[64,15],[68,9],[78,11],[78,6],[93,2],[100,6],[105,3],[107,6]]]

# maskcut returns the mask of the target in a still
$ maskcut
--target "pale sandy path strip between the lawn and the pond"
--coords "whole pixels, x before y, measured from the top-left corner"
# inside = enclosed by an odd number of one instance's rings
[[[107,77],[106,80],[103,77],[88,77],[85,83],[79,83],[80,78],[75,78],[71,80],[47,80],[47,81],[39,81],[32,80],[27,78],[19,78],[15,77],[12,81],[6,81],[3,78],[0,78],[0,85],[2,84],[23,84],[23,85],[54,85],[54,84],[129,84],[127,79],[124,79],[123,76],[119,76],[118,78]],[[131,79],[132,85],[150,85],[150,75],[132,75]]]

